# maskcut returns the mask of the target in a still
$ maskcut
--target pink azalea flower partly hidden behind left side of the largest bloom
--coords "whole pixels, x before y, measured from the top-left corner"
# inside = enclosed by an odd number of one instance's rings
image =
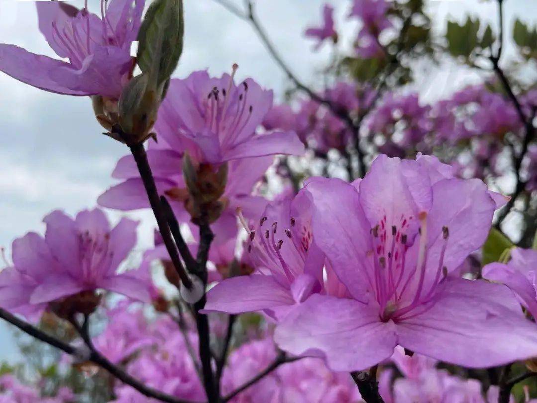
[[[228,278],[207,293],[205,312],[264,311],[279,318],[311,293],[321,291],[324,256],[311,237],[307,192],[266,207],[249,232],[247,254],[256,269]]]

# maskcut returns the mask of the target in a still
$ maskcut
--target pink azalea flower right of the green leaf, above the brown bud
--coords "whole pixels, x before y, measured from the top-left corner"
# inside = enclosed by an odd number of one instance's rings
[[[295,133],[256,135],[272,108],[273,92],[251,78],[236,85],[233,75],[212,78],[196,71],[171,80],[167,94],[155,124],[158,140],[198,163],[304,152]]]

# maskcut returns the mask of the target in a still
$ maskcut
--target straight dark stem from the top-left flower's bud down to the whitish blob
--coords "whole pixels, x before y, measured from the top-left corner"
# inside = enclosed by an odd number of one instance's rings
[[[177,248],[171,238],[170,228],[168,227],[168,222],[166,221],[166,217],[162,210],[161,200],[158,196],[157,186],[155,184],[153,172],[151,172],[151,168],[149,167],[146,150],[143,148],[142,143],[129,146],[129,148],[130,152],[132,152],[133,154],[134,160],[136,161],[140,176],[142,177],[142,182],[144,188],[146,188],[147,197],[149,198],[149,204],[151,205],[151,210],[153,210],[153,214],[155,215],[155,219],[157,220],[158,231],[160,231],[162,235],[162,241],[166,246],[166,250],[168,250],[168,254],[170,255],[170,260],[173,264],[173,267],[177,271],[177,274],[179,275],[183,284],[188,289],[191,289],[192,281],[190,277],[188,277],[188,274],[183,267],[183,263],[181,263],[179,255],[177,253]]]

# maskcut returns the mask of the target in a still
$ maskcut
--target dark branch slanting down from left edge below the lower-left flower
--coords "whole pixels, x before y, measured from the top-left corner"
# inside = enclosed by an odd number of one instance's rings
[[[112,362],[108,361],[108,359],[105,356],[101,355],[100,352],[97,351],[95,347],[93,347],[93,344],[91,343],[91,339],[89,339],[89,336],[87,335],[86,330],[83,330],[87,326],[87,320],[85,320],[86,324],[83,325],[83,327],[79,329],[82,332],[81,336],[83,337],[86,346],[88,346],[89,351],[84,351],[84,350],[72,347],[70,344],[65,343],[61,340],[58,340],[55,337],[46,334],[45,332],[42,332],[37,327],[30,325],[30,323],[20,320],[19,318],[17,318],[17,316],[12,315],[11,313],[3,310],[2,308],[0,308],[0,318],[5,320],[6,322],[11,323],[11,325],[19,328],[24,333],[32,337],[35,337],[35,339],[38,339],[44,343],[47,343],[50,346],[53,346],[53,347],[56,347],[57,349],[62,350],[66,354],[69,354],[71,356],[78,357],[78,358],[84,358],[84,359],[87,359],[87,361],[91,361],[92,363],[99,365],[101,368],[110,372],[114,377],[121,380],[121,382],[134,387],[137,391],[146,395],[147,397],[158,399],[158,400],[169,402],[169,403],[188,403],[188,401],[186,400],[178,399],[176,397],[157,391],[143,384],[142,382],[140,382],[140,380],[130,376],[127,372],[125,372],[118,366],[115,366]]]

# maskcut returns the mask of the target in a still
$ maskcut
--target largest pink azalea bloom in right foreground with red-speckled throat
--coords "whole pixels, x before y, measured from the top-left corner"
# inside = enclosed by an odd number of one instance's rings
[[[487,238],[497,202],[434,157],[377,157],[362,181],[314,178],[311,225],[352,298],[316,293],[275,332],[280,348],[369,368],[400,345],[468,367],[537,355],[537,326],[504,285],[447,276]]]

